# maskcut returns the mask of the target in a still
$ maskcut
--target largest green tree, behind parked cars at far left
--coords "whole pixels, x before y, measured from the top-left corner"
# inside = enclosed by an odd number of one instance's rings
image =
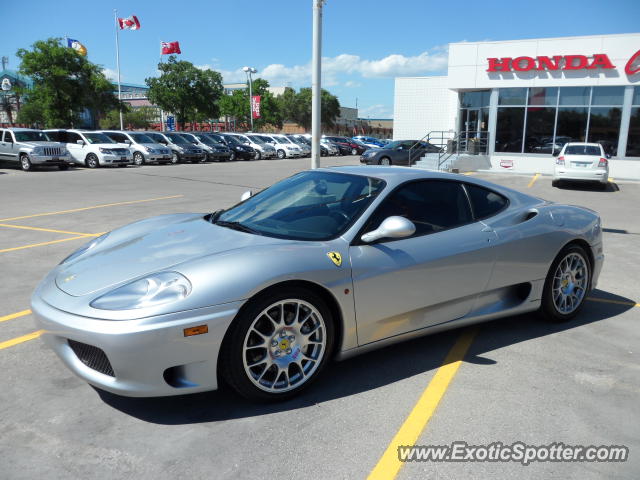
[[[31,50],[21,48],[16,53],[20,74],[33,81],[31,89],[19,92],[25,98],[19,122],[71,127],[85,109],[99,115],[119,108],[102,68],[60,42],[60,38],[39,40]]]

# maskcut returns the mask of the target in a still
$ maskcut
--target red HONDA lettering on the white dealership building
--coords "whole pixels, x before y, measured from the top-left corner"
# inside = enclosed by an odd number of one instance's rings
[[[636,54],[637,55],[637,54]],[[616,68],[605,53],[586,55],[554,55],[553,57],[487,58],[487,72],[528,72],[530,70],[583,70]]]

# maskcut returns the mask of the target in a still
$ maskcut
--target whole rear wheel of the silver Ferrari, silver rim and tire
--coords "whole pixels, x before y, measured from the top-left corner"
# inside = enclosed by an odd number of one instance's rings
[[[551,264],[544,282],[540,312],[555,322],[575,317],[591,288],[591,262],[584,248],[569,245]]]

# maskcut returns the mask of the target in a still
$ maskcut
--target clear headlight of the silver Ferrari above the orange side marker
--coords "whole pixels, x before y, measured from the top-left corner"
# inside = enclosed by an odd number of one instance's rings
[[[98,297],[91,306],[100,310],[132,310],[182,300],[191,283],[178,272],[161,272],[136,280]]]

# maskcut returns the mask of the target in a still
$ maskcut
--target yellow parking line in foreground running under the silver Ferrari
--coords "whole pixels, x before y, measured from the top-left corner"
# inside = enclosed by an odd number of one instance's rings
[[[400,430],[398,430],[398,433],[393,437],[382,457],[378,460],[378,464],[367,477],[368,480],[391,480],[398,475],[403,465],[403,462],[398,459],[398,446],[415,445],[458,371],[475,334],[476,330],[467,330],[458,338],[444,359],[443,364],[438,368],[431,382],[422,392],[418,403],[413,407]]]

